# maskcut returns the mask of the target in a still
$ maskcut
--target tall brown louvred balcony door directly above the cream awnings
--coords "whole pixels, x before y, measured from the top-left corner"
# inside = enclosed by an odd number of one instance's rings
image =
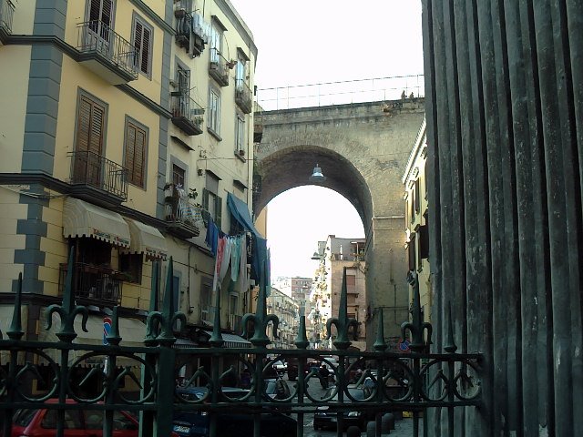
[[[77,108],[77,138],[73,182],[101,187],[106,108],[81,95]]]

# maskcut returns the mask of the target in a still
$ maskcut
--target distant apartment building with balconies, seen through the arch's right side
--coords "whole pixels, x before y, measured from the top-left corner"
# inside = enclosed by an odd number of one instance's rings
[[[363,351],[366,349],[366,265],[363,259],[365,239],[341,239],[329,235],[326,241],[318,242],[318,250],[312,259],[319,261],[310,294],[315,330],[312,342],[317,349],[332,349],[336,337],[332,328],[332,338],[325,340],[326,323],[331,317],[338,317],[340,296],[343,285],[343,270],[346,268],[347,313],[348,317],[359,322],[357,340],[352,346]],[[351,332],[352,333],[352,332]]]

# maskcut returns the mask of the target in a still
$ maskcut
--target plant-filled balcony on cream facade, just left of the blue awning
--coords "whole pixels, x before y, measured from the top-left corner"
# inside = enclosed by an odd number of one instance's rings
[[[184,188],[167,184],[165,188],[165,219],[170,233],[181,239],[199,236],[195,223],[201,220],[200,208],[189,201]]]

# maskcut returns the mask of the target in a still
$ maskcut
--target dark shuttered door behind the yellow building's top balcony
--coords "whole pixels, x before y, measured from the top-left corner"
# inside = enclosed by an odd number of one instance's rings
[[[112,43],[113,0],[89,0],[87,6],[89,23],[85,45],[107,55]]]

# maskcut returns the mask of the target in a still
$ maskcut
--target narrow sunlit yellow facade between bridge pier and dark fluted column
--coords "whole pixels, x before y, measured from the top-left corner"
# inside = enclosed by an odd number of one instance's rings
[[[431,276],[429,270],[429,208],[425,169],[427,136],[425,120],[417,134],[403,175],[404,217],[409,271],[417,274],[424,321],[431,321]],[[409,302],[413,288],[409,287]]]

